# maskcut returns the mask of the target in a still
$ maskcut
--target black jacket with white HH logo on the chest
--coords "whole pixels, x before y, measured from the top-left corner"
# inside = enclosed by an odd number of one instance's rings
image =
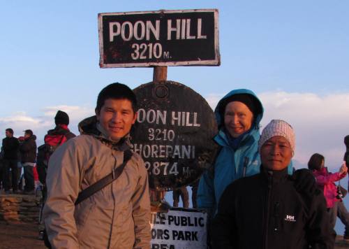
[[[333,248],[325,197],[295,185],[287,168],[229,185],[212,222],[213,248]]]

